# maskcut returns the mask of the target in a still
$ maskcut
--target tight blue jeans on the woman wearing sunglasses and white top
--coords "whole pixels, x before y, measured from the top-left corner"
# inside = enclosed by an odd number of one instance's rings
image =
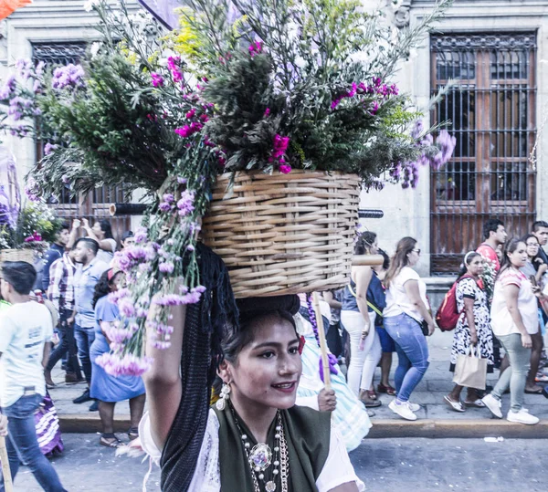
[[[407,402],[430,363],[427,339],[416,320],[406,314],[389,316],[384,322],[385,330],[395,341],[398,358],[394,377],[396,398]]]

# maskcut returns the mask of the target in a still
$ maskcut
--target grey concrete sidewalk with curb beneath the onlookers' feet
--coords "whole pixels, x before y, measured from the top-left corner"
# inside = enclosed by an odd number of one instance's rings
[[[499,420],[491,417],[487,408],[469,408],[465,413],[457,413],[448,408],[444,402],[444,395],[453,387],[452,373],[448,372],[449,357],[453,334],[439,330],[428,339],[430,349],[430,366],[422,382],[419,383],[412,395],[412,402],[422,405],[416,415],[416,422],[407,422],[396,416],[388,408],[393,398],[386,394],[379,394],[383,405],[374,408],[372,418],[374,427],[369,437],[548,437],[548,400],[542,394],[526,394],[525,406],[533,415],[541,418],[536,425],[511,424],[506,419]],[[397,364],[394,357],[392,370]],[[63,381],[64,373],[56,368],[53,372],[54,381]],[[499,377],[495,371],[488,375],[488,384],[494,385]],[[380,379],[380,369],[377,368],[375,382]],[[391,379],[393,382],[393,379]],[[63,432],[87,433],[100,431],[98,412],[89,412],[90,403],[74,404],[72,400],[79,396],[86,388],[85,383],[68,385],[58,384],[50,390],[51,397],[58,409],[59,419]],[[462,397],[466,396],[463,390]],[[510,395],[504,395],[502,412],[508,412]],[[129,424],[129,404],[121,402],[116,405],[115,418],[118,432],[126,432]]]

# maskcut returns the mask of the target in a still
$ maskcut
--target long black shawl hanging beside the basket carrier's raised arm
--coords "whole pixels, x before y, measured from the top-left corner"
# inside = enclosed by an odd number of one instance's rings
[[[190,487],[204,441],[211,387],[227,323],[237,326],[237,306],[223,260],[198,244],[200,281],[207,288],[198,304],[187,306],[181,353],[183,393],[161,459],[163,492]]]

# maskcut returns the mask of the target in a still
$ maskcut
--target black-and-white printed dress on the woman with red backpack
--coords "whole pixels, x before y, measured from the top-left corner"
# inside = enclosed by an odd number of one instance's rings
[[[458,318],[457,328],[453,335],[450,371],[455,370],[459,354],[466,354],[470,346],[470,329],[464,310],[464,299],[474,299],[474,323],[478,333],[479,354],[487,359],[487,372],[493,371],[493,335],[490,328],[490,313],[487,296],[473,278],[463,278],[457,285],[457,309],[462,312]]]

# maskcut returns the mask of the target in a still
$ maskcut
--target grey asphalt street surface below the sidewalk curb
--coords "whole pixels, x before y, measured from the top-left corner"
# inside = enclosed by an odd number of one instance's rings
[[[97,444],[96,434],[65,434],[63,438],[66,451],[53,463],[68,492],[142,490],[148,461],[116,457],[114,450]],[[545,452],[543,439],[495,443],[483,439],[365,439],[351,453],[351,460],[367,490],[374,492],[544,492]],[[158,492],[159,481],[159,469],[153,466],[146,490]],[[22,467],[15,489],[38,492],[40,487]]]

